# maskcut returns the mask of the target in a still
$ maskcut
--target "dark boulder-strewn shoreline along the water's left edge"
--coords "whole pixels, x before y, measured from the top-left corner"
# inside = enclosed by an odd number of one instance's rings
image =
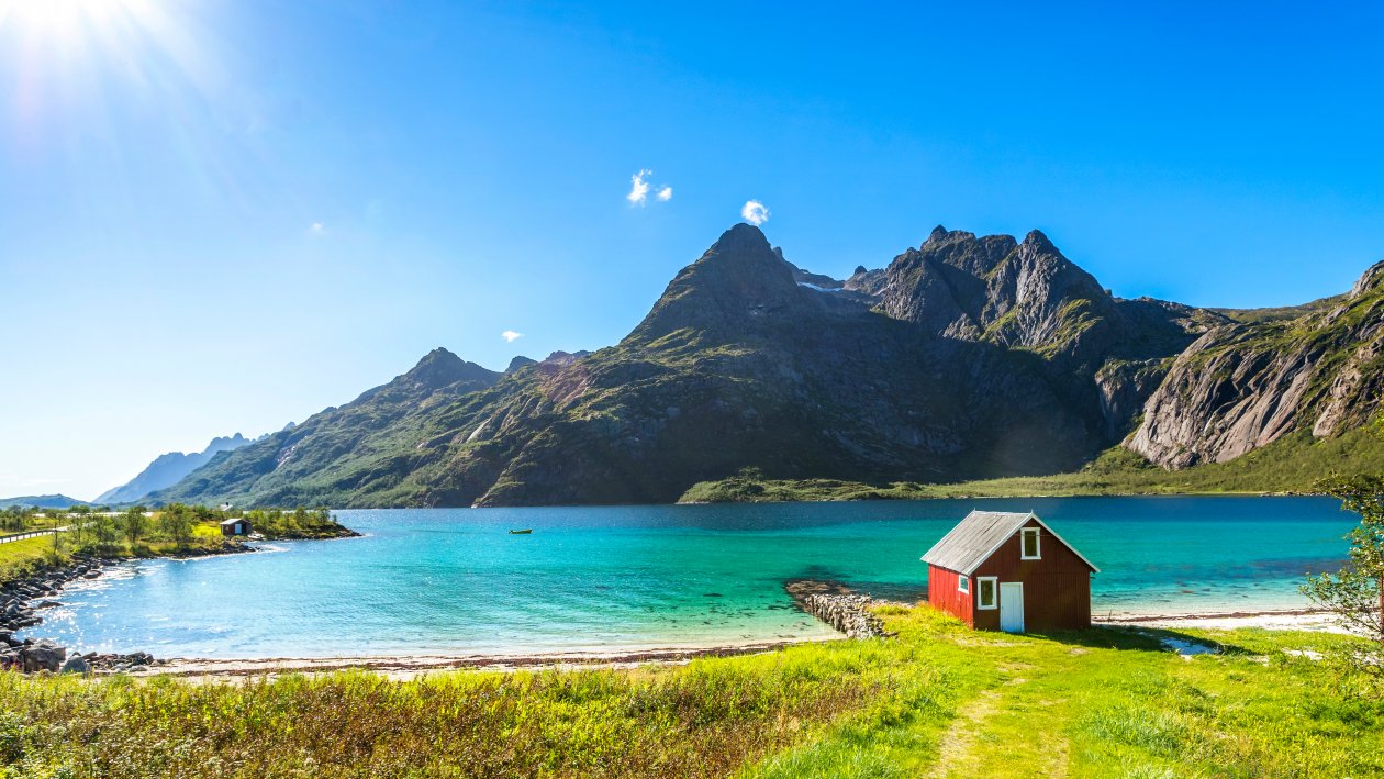
[[[223,544],[187,553],[161,555],[162,558],[206,558],[253,552],[253,547]],[[47,638],[15,638],[15,632],[43,623],[42,612],[62,605],[62,588],[78,580],[100,578],[102,569],[130,560],[151,558],[102,558],[94,555],[73,556],[72,562],[54,569],[29,574],[0,584],[0,670],[12,668],[24,672],[93,672],[93,671],[140,671],[161,664],[147,652],[129,654],[102,654],[89,652],[68,657],[65,646]]]

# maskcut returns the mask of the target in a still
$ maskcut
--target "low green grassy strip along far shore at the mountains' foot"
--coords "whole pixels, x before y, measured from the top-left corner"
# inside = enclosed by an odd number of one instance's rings
[[[680,502],[861,501],[1037,495],[1139,495],[1215,493],[1311,493],[1331,473],[1384,470],[1384,425],[1334,439],[1315,440],[1308,430],[1229,462],[1167,470],[1125,448],[1114,447],[1075,473],[985,479],[955,484],[894,482],[864,484],[833,479],[767,480],[753,470],[720,482],[703,482]]]

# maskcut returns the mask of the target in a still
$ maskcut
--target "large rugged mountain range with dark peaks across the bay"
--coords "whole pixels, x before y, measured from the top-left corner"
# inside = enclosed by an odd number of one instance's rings
[[[435,350],[393,382],[154,493],[277,505],[670,502],[767,479],[955,482],[1164,468],[1362,426],[1384,392],[1384,263],[1300,309],[1114,297],[1038,231],[936,228],[880,270],[797,268],[739,224],[616,346]]]

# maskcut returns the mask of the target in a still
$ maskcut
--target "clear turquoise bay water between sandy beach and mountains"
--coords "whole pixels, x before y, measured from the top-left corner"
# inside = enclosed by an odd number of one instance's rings
[[[1337,501],[1297,497],[343,511],[367,537],[125,565],[69,588],[32,632],[159,657],[822,636],[786,580],[916,599],[919,558],[972,508],[1038,512],[1102,569],[1098,614],[1301,606],[1302,574],[1338,567],[1355,523]]]

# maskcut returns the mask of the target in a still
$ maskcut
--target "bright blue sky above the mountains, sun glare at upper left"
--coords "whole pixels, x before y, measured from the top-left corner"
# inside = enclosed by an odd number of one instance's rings
[[[1193,304],[1384,257],[1377,4],[662,6],[0,0],[0,495],[610,345],[749,199],[837,275],[938,223]]]

